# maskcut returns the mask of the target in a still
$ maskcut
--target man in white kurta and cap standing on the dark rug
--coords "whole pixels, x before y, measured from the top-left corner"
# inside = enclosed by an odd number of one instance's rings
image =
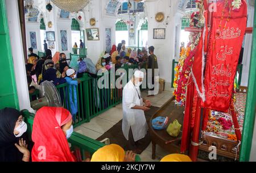
[[[140,153],[136,142],[144,138],[147,134],[147,122],[144,111],[150,109],[149,100],[144,100],[139,90],[143,81],[144,73],[135,71],[133,78],[123,88],[123,135],[127,140],[127,150]],[[144,103],[143,103],[144,102]]]

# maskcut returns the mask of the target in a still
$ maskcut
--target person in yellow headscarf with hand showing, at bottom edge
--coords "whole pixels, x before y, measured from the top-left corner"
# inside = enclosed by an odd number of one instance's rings
[[[136,154],[127,151],[119,145],[110,144],[98,149],[93,155],[91,162],[134,162]]]

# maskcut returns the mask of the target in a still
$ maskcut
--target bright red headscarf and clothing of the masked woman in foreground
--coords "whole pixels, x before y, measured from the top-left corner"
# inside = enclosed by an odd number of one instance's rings
[[[61,126],[72,120],[67,109],[43,107],[36,112],[32,127],[33,162],[73,162],[74,155],[68,146]]]

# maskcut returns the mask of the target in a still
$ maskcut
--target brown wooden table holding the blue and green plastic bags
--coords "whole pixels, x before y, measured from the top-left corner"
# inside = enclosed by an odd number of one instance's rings
[[[152,119],[155,119],[155,117],[163,116],[169,117],[167,127],[170,123],[172,123],[175,119],[179,121],[179,123],[183,124],[183,114],[184,107],[181,106],[175,106],[174,104],[174,97],[172,97],[170,100],[168,100],[167,103],[165,103],[162,107],[159,108],[159,110],[153,115],[150,119],[150,136],[152,140],[152,159],[155,159],[155,149],[156,144],[162,147],[164,150],[171,153],[180,153],[180,141],[182,134],[180,133],[178,137],[172,137],[170,136],[166,129],[164,130],[155,130],[152,128]],[[182,126],[181,126],[182,130]]]

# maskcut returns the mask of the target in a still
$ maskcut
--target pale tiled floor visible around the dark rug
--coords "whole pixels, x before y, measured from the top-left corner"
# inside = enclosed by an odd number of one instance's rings
[[[143,91],[142,96],[144,99],[150,100],[152,106],[161,107],[172,97],[172,91],[163,91],[162,93],[153,97],[147,97],[147,91]],[[103,133],[112,128],[112,126],[122,120],[122,116],[122,104],[118,104],[114,108],[111,108],[108,111],[101,113],[101,115],[94,117],[92,120],[90,120],[90,123],[84,123],[75,128],[75,131],[96,140]],[[159,146],[156,146],[156,159],[152,160],[152,145],[150,144],[147,149],[142,152],[140,157],[143,162],[158,162],[162,157],[164,157],[164,155],[167,154],[168,153],[166,151],[161,149]]]

